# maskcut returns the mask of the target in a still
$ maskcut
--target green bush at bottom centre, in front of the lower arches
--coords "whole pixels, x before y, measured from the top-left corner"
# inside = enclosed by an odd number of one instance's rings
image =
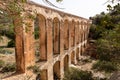
[[[89,71],[82,71],[76,68],[70,68],[65,72],[63,80],[94,80],[92,73]]]

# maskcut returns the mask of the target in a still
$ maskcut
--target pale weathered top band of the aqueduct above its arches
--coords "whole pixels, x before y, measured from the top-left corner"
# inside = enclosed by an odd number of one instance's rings
[[[27,9],[29,9],[31,11],[35,10],[38,14],[42,12],[41,14],[46,18],[57,17],[59,20],[69,20],[69,21],[73,20],[75,22],[83,21],[85,23],[87,23],[87,22],[91,23],[91,20],[89,20],[89,19],[86,19],[86,18],[83,18],[83,17],[80,17],[80,16],[76,16],[76,15],[73,15],[73,14],[70,14],[70,13],[66,13],[66,12],[63,12],[63,11],[59,11],[59,10],[56,10],[56,9],[53,9],[53,8],[49,8],[47,6],[43,6],[43,5],[38,4],[36,2],[33,2],[33,1],[28,1],[26,7],[27,7]]]

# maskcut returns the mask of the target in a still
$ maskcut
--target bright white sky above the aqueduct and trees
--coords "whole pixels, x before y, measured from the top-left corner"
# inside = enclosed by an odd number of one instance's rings
[[[49,6],[42,0],[32,0],[39,4],[54,8]],[[67,13],[71,13],[84,18],[89,18],[101,12],[106,12],[107,4],[104,4],[107,0],[63,0],[61,3],[56,3],[55,0],[49,0],[56,6],[64,9],[58,9]],[[57,9],[57,8],[55,8]]]

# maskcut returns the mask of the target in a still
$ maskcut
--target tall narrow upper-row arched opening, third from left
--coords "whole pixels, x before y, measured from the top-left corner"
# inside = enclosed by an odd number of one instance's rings
[[[69,49],[69,23],[68,20],[64,21],[64,49]]]

